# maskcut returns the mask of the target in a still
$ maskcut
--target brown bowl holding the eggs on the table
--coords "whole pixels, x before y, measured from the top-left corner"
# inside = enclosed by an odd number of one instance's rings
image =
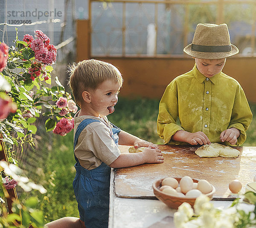
[[[174,178],[180,183],[181,177],[174,177]],[[154,191],[154,194],[157,197],[157,199],[161,200],[169,208],[173,208],[173,209],[178,209],[178,207],[181,204],[183,204],[183,202],[189,203],[192,207],[194,206],[196,198],[184,198],[184,197],[171,196],[168,193],[160,191],[159,188],[161,187],[161,183],[162,183],[163,179],[157,180],[153,184],[153,191]],[[192,180],[193,180],[193,182],[196,182],[196,183],[198,182],[197,179],[192,179]],[[210,199],[212,199],[212,196],[213,196],[214,193],[215,193],[215,188],[212,185],[212,191],[210,193],[205,194],[205,195],[208,196]]]

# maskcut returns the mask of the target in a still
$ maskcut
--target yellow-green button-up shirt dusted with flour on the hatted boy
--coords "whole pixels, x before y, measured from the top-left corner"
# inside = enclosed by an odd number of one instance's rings
[[[181,126],[176,123],[178,117]],[[186,144],[171,140],[178,130],[202,131],[211,142],[221,142],[221,132],[236,127],[240,130],[236,146],[240,146],[251,121],[252,113],[238,81],[223,72],[206,78],[195,65],[166,87],[159,104],[157,133],[164,144]]]

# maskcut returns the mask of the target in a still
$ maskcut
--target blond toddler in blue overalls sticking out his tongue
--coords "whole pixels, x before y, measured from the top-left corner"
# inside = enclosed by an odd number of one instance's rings
[[[111,124],[122,86],[119,70],[97,60],[84,60],[70,67],[70,87],[80,109],[74,122],[76,176],[73,188],[81,224],[86,228],[107,228],[111,167],[162,163],[163,155],[151,142],[139,139]],[[120,153],[118,143],[148,147],[140,153]]]

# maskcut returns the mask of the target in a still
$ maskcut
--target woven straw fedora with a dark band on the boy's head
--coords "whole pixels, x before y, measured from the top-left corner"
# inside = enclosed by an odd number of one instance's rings
[[[227,24],[199,23],[192,43],[183,51],[195,58],[221,59],[236,55],[239,49],[230,43]]]

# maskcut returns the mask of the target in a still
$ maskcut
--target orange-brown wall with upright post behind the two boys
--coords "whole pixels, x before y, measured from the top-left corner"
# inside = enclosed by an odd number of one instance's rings
[[[77,21],[77,61],[92,58],[89,47],[89,23]],[[176,76],[183,74],[195,64],[193,58],[143,58],[101,57],[112,63],[122,73],[124,84],[120,91],[125,97],[161,98],[166,86]],[[256,57],[231,57],[223,72],[235,78],[244,89],[248,101],[256,103]]]

